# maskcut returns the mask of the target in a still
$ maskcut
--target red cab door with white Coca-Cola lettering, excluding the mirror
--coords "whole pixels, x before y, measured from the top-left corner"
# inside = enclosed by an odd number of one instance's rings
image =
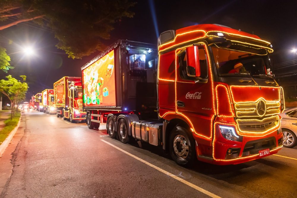
[[[203,138],[212,137],[214,118],[211,67],[205,45],[198,46],[200,77],[187,73],[187,55],[178,52],[176,60],[176,110],[192,123],[193,132]]]

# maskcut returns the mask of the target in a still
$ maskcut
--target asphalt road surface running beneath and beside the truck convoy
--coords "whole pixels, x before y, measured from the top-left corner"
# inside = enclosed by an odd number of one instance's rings
[[[103,128],[24,113],[0,197],[297,197],[297,147],[244,164],[186,169],[162,148],[122,144]]]

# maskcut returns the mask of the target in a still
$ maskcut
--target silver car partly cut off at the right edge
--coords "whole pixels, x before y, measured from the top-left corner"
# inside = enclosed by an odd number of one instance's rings
[[[282,116],[282,133],[284,135],[282,145],[293,148],[297,145],[297,107],[285,110]]]

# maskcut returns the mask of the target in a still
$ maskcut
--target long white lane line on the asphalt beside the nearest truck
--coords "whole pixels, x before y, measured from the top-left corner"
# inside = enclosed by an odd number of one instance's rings
[[[129,156],[131,156],[131,157],[133,157],[135,159],[137,159],[138,161],[141,161],[142,163],[144,163],[146,165],[149,165],[150,167],[152,167],[152,168],[154,168],[154,169],[156,169],[156,170],[164,173],[165,175],[168,175],[168,176],[170,176],[170,177],[172,177],[172,178],[180,181],[181,183],[184,183],[184,184],[192,187],[193,189],[198,190],[198,191],[200,191],[200,192],[208,195],[209,197],[220,198],[219,196],[217,196],[217,195],[215,195],[215,194],[213,194],[213,193],[211,193],[211,192],[209,192],[207,190],[204,190],[203,188],[201,188],[199,186],[196,186],[195,184],[192,184],[192,183],[190,183],[190,182],[188,182],[188,181],[186,181],[186,180],[184,180],[184,179],[182,179],[182,178],[180,178],[180,177],[178,177],[176,175],[173,175],[172,173],[167,172],[166,170],[163,170],[163,169],[155,166],[154,164],[151,164],[151,163],[149,163],[149,162],[147,162],[147,161],[145,161],[145,160],[143,160],[143,159],[141,159],[141,158],[139,158],[139,157],[137,157],[137,156],[135,156],[135,155],[133,155],[131,153],[128,153],[127,151],[124,151],[123,149],[121,149],[121,148],[119,148],[119,147],[117,147],[117,146],[115,146],[115,145],[113,145],[113,144],[111,144],[111,143],[109,143],[109,142],[107,142],[105,140],[101,140],[101,141],[104,142],[104,143],[106,143],[106,144],[108,144],[108,145],[110,145],[110,146],[112,146],[113,148],[116,148],[119,151],[121,151],[121,152],[123,152],[123,153],[125,153],[125,154],[127,154],[127,155],[129,155]]]

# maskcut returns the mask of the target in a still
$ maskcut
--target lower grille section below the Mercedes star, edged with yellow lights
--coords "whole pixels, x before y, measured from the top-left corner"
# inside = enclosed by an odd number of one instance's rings
[[[279,116],[259,119],[236,119],[240,132],[265,133],[266,131],[279,126]]]

